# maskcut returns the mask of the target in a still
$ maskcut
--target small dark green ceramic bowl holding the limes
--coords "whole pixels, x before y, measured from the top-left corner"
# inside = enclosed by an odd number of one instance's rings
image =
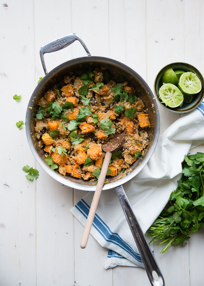
[[[164,103],[161,102],[161,99],[159,98],[159,89],[163,84],[163,82],[161,81],[161,77],[162,77],[163,73],[166,70],[168,70],[169,68],[172,68],[173,70],[184,70],[185,72],[191,71],[198,76],[198,78],[200,79],[200,81],[202,83],[202,89],[199,93],[194,95],[192,102],[183,103],[182,106],[179,106],[176,108],[168,107]],[[203,96],[204,96],[204,79],[203,79],[203,76],[201,75],[201,73],[199,72],[199,70],[197,70],[197,68],[195,68],[194,66],[189,65],[185,62],[173,62],[172,64],[166,65],[164,68],[162,68],[159,71],[159,73],[156,76],[156,79],[154,81],[154,93],[155,93],[156,99],[164,108],[166,108],[172,112],[176,112],[176,113],[190,112],[190,111],[194,110],[200,104],[200,102],[203,99]]]

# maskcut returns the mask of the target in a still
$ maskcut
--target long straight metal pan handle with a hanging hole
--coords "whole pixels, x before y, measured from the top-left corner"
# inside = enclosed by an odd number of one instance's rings
[[[132,235],[135,239],[137,248],[139,250],[140,256],[142,258],[145,270],[147,272],[148,278],[151,285],[153,286],[164,286],[164,279],[159,269],[159,266],[156,262],[155,257],[153,256],[152,250],[145,238],[145,235],[141,229],[139,222],[135,216],[135,213],[129,203],[129,200],[125,194],[125,191],[122,186],[116,187],[116,193],[118,195],[119,201],[121,203],[124,214],[127,218],[129,227],[131,229]],[[158,275],[158,281],[153,277],[153,271]]]

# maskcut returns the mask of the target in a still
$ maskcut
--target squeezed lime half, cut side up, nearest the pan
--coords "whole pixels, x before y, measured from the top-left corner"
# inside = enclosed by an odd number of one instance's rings
[[[171,83],[164,83],[160,87],[159,98],[166,104],[166,106],[171,108],[180,106],[184,101],[184,97],[180,89]]]

